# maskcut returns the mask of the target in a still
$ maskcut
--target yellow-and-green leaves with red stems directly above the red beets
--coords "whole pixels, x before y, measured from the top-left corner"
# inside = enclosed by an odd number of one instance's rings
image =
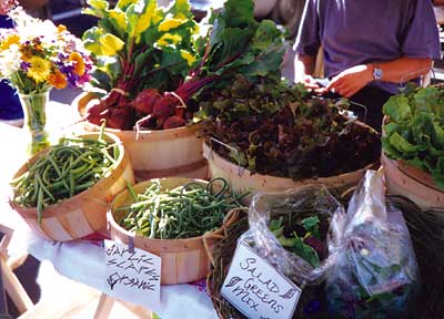
[[[157,0],[88,0],[83,13],[99,18],[83,42],[93,53],[97,70],[92,84],[119,89],[135,96],[142,89],[175,90],[196,61],[199,32],[188,0],[168,8]]]

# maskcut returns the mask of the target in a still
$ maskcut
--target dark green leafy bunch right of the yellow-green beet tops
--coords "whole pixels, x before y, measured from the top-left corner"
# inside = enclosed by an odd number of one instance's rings
[[[200,39],[200,78],[225,75],[216,83],[222,88],[235,73],[250,81],[255,76],[280,76],[283,32],[273,21],[254,19],[252,0],[228,0],[221,12],[212,12],[209,27],[209,37]]]

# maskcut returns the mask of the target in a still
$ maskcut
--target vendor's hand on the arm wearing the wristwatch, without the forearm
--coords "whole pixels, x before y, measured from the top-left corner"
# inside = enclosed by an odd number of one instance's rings
[[[344,97],[351,97],[371,81],[373,81],[372,68],[366,64],[360,64],[346,69],[334,76],[325,89]]]

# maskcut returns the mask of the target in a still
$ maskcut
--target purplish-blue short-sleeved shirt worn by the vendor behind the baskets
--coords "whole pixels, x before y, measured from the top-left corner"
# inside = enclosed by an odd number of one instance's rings
[[[402,56],[440,58],[440,37],[428,0],[306,0],[296,53],[324,51],[324,73],[332,78],[357,64]],[[400,84],[373,82],[397,93]]]

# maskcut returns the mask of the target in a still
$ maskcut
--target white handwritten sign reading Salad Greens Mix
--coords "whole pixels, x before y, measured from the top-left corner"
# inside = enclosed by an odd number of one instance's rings
[[[291,318],[301,289],[240,241],[222,296],[250,319]]]

